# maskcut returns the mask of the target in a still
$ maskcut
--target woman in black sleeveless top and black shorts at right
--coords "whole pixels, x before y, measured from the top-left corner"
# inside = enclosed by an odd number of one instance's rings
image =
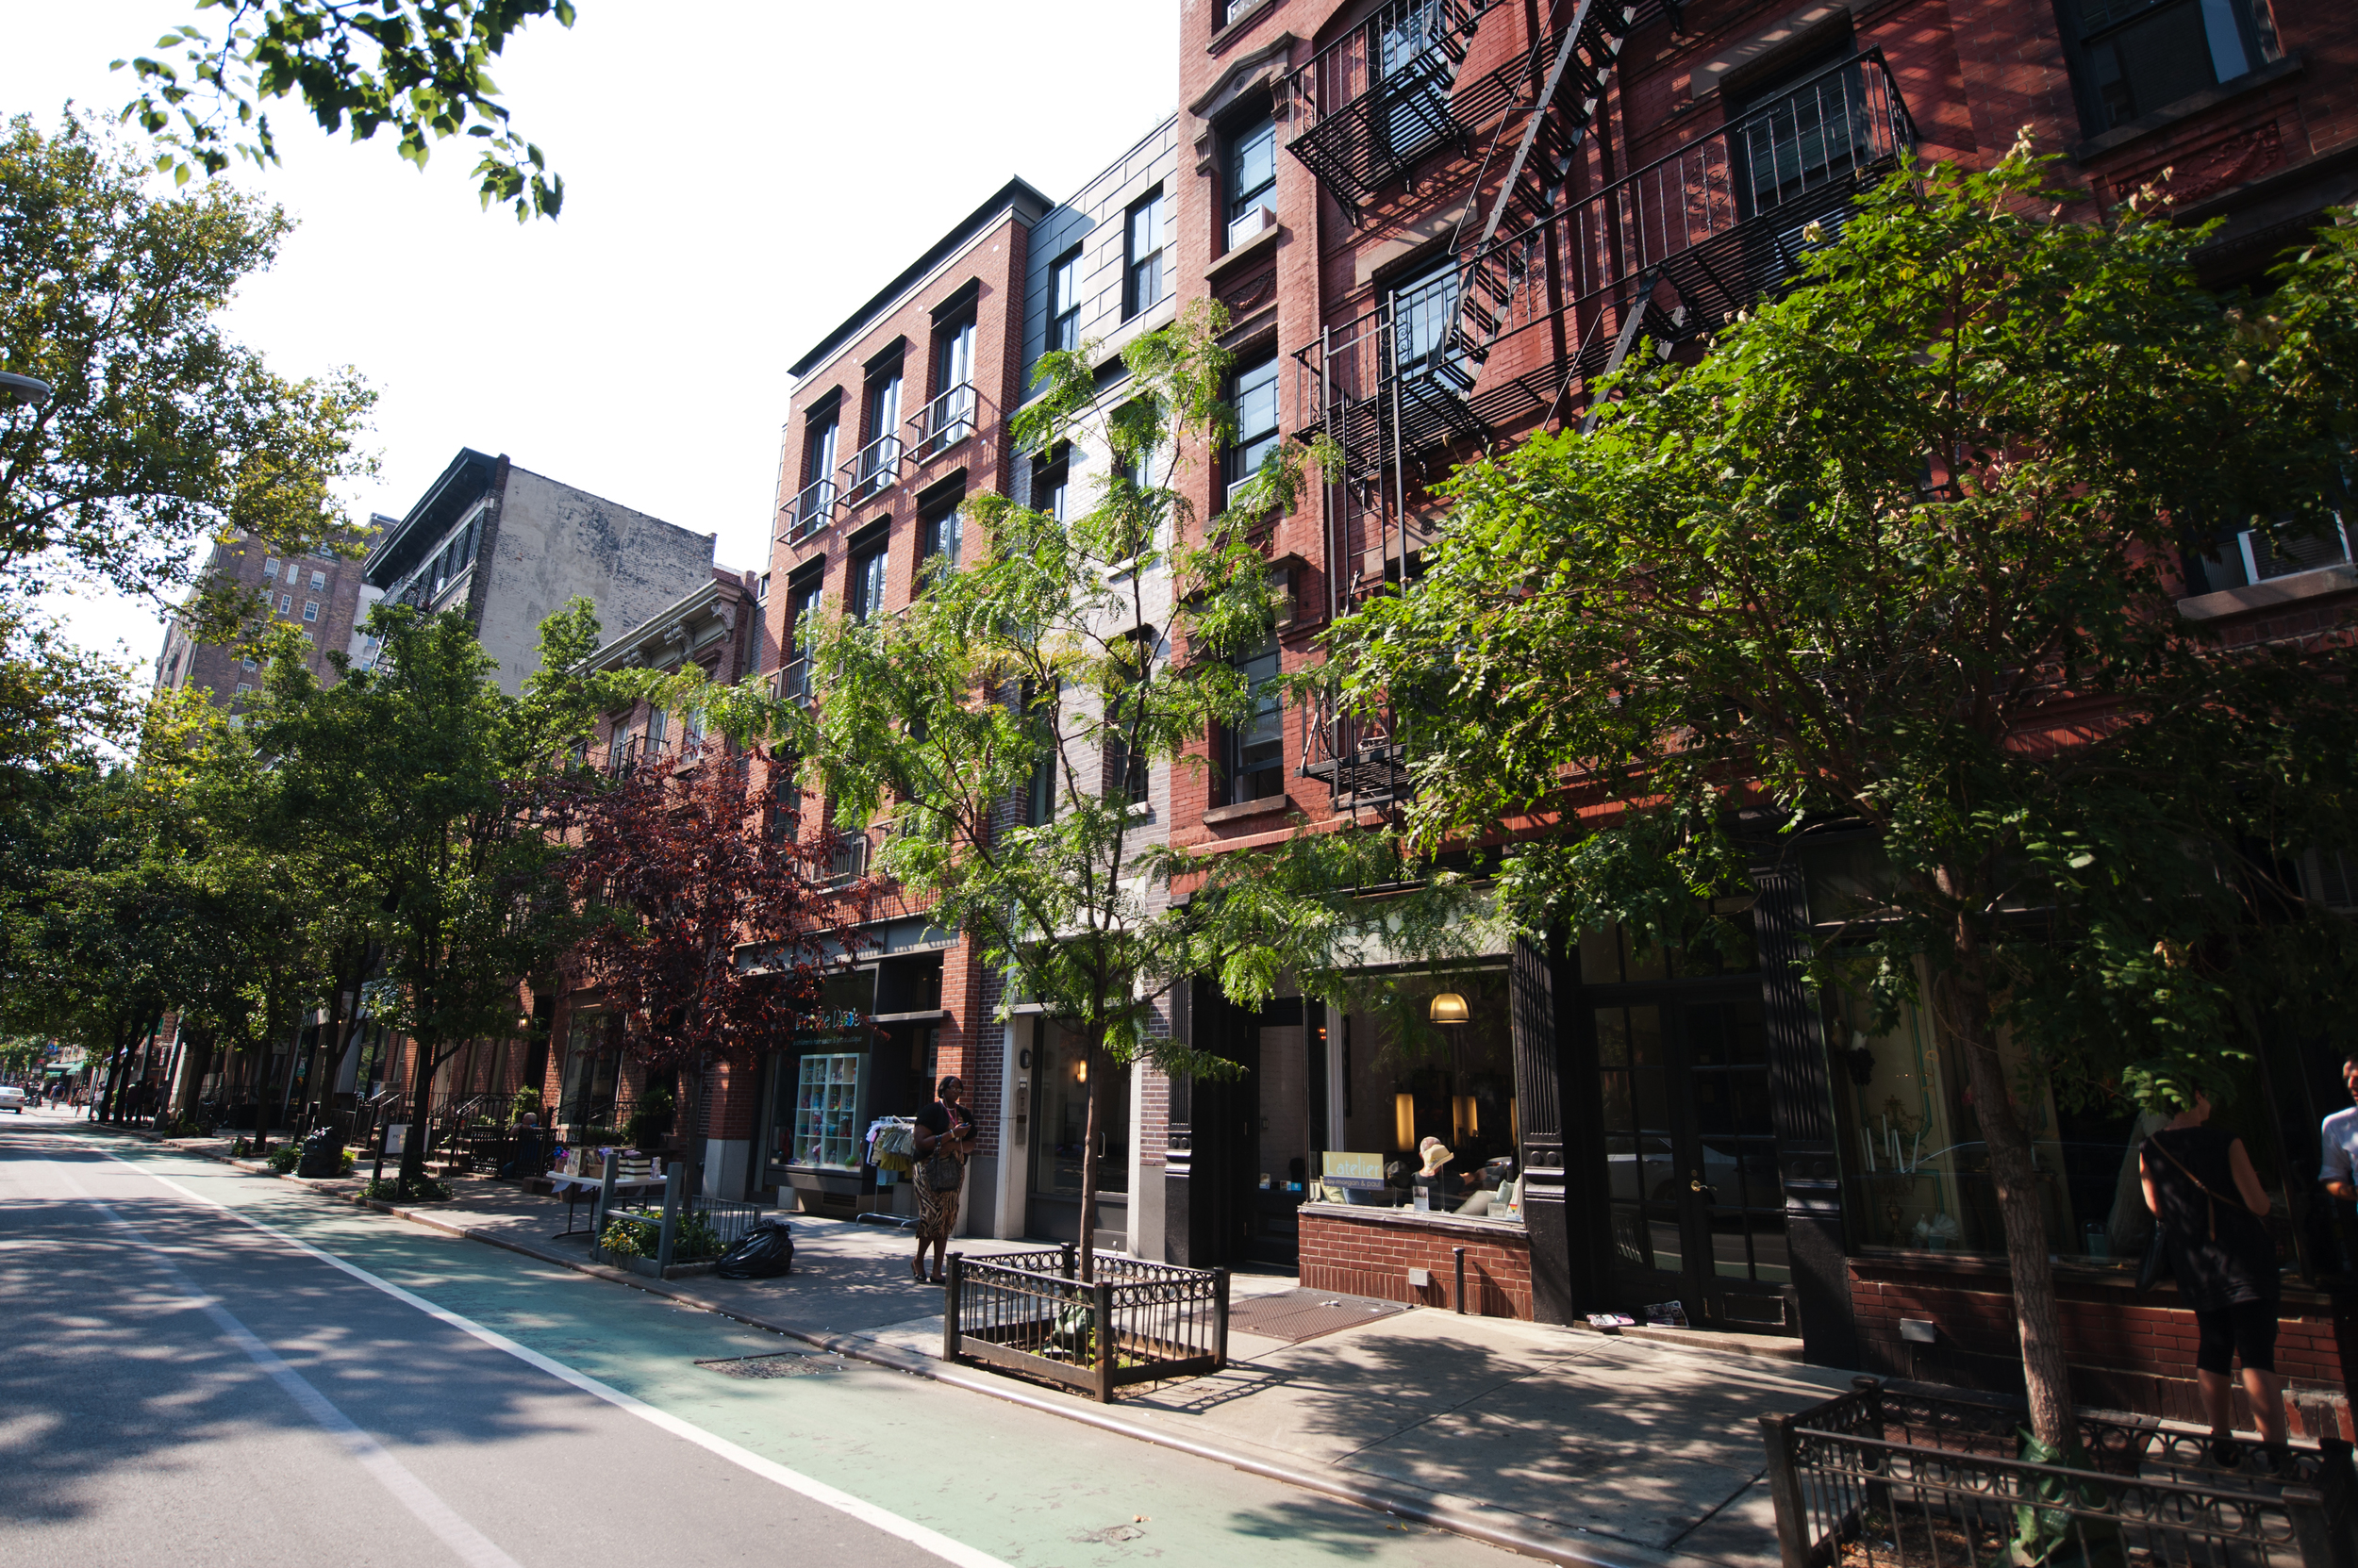
[[[2191,1111],[2136,1151],[2146,1207],[2162,1228],[2179,1297],[2195,1313],[2195,1384],[2212,1424],[2212,1457],[2235,1464],[2233,1384],[2242,1356],[2242,1391],[2268,1448],[2285,1443],[2285,1379],[2275,1375],[2275,1316],[2280,1283],[2275,1243],[2261,1224],[2268,1193],[2259,1186],[2242,1139],[2205,1127],[2212,1103],[2195,1094]]]

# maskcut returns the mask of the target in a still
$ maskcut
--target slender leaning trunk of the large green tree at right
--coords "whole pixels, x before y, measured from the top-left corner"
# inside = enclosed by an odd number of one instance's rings
[[[2037,1172],[2030,1162],[2030,1132],[2014,1108],[2007,1066],[1997,1056],[1997,1033],[1990,1028],[1988,955],[1969,931],[1959,931],[1959,964],[1945,976],[1945,997],[1936,995],[1941,1023],[1964,1047],[1967,1082],[1974,1089],[1974,1120],[1990,1153],[1990,1184],[1997,1188],[1997,1214],[2007,1231],[2007,1269],[2014,1276],[2014,1320],[2023,1346],[2023,1384],[2030,1394],[2030,1431],[2054,1450],[2075,1443],[2070,1401],[2070,1365],[2063,1356],[2063,1325],[2056,1313],[2056,1280],[2049,1261],[2047,1219],[2040,1212]]]

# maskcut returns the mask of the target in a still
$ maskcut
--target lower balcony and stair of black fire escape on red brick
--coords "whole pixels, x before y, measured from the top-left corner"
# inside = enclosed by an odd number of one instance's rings
[[[1589,413],[1596,382],[1641,340],[1667,356],[1790,288],[1802,255],[1915,144],[1898,85],[1868,50],[1568,198],[1639,21],[1636,5],[1580,0],[1516,66],[1521,97],[1476,179],[1493,196],[1478,229],[1460,226],[1457,266],[1295,354],[1297,424],[1344,455],[1328,474],[1330,613],[1408,580],[1427,538],[1410,512],[1427,465],[1493,431]],[[1328,778],[1337,804],[1382,806],[1408,790],[1389,714],[1313,710],[1304,771]]]

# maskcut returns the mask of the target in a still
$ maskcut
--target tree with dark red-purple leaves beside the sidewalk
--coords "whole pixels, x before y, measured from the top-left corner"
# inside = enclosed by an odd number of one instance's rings
[[[792,797],[764,811],[755,764],[790,766],[759,745],[707,745],[677,771],[653,759],[611,788],[582,780],[559,818],[571,830],[559,875],[592,917],[564,969],[606,995],[641,1066],[684,1070],[691,1132],[705,1068],[755,1066],[814,1016],[863,905],[863,887],[830,887],[839,835],[804,835]],[[700,1184],[700,1155],[696,1172]]]

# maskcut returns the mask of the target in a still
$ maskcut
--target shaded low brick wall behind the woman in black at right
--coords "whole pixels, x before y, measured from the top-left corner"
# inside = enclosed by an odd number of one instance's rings
[[[1919,1382],[2021,1394],[2023,1358],[2014,1294],[2002,1266],[1981,1259],[1924,1266],[1851,1259],[1851,1304],[1865,1370]],[[2351,1424],[2344,1335],[2358,1332],[2358,1304],[2287,1290],[2275,1335],[2294,1436],[2358,1436]],[[2073,1398],[2089,1408],[2202,1422],[2195,1394],[2195,1316],[2162,1285],[2139,1294],[2127,1280],[2056,1280],[2056,1309],[2070,1353]],[[1934,1344],[1901,1339],[1901,1318],[1929,1320]],[[2242,1384],[2235,1419],[2250,1427]]]

